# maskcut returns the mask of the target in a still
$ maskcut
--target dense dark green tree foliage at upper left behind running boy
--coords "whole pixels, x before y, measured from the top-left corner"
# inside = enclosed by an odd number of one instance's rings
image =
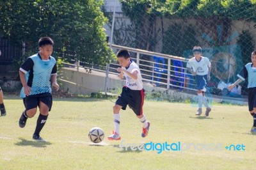
[[[25,42],[35,52],[38,39],[50,36],[57,54],[104,65],[110,50],[102,4],[103,0],[0,0],[0,37]]]

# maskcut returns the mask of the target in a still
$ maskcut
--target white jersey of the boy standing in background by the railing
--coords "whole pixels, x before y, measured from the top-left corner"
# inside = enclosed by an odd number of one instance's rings
[[[196,61],[196,58],[193,57],[189,59],[187,68],[192,68],[197,75],[206,75],[209,72],[209,67],[211,67],[211,63],[208,58],[201,56],[200,61]]]

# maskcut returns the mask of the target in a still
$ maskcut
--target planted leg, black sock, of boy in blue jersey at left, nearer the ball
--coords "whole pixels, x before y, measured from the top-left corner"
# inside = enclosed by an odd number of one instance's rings
[[[46,97],[40,98],[40,103],[39,103],[40,114],[36,121],[36,128],[35,128],[35,132],[33,134],[33,139],[43,140],[39,134],[47,121],[49,111],[51,111],[51,107],[52,107],[52,97],[51,96],[46,96]]]

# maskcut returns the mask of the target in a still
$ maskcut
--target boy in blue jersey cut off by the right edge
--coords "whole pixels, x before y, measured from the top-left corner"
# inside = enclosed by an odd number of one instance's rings
[[[252,63],[244,66],[238,74],[236,82],[228,86],[231,91],[237,84],[248,78],[248,106],[249,112],[253,117],[253,126],[251,128],[252,134],[256,134],[256,50],[252,52]]]

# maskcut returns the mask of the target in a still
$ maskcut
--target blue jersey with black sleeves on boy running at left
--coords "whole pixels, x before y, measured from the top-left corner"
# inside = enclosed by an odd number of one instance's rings
[[[51,75],[57,74],[56,60],[52,56],[47,60],[43,60],[39,53],[30,56],[20,66],[20,72],[28,73],[26,81],[31,87],[30,95],[51,94]]]

